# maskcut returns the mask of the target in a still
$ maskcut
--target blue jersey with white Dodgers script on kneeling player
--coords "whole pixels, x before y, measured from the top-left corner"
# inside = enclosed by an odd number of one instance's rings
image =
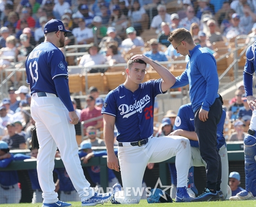
[[[162,79],[139,84],[134,93],[122,84],[109,92],[102,114],[116,117],[117,141],[134,142],[153,134],[155,96],[163,93]]]

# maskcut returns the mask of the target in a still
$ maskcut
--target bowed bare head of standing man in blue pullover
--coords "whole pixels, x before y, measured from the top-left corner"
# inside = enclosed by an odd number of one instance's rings
[[[195,46],[191,33],[185,28],[178,28],[171,31],[168,36],[168,41],[171,42],[176,52],[183,56],[189,54],[189,50]]]

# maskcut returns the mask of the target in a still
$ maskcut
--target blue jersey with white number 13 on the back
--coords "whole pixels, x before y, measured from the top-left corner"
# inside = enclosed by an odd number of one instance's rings
[[[53,79],[65,76],[68,82],[68,63],[63,52],[51,42],[43,42],[33,49],[27,57],[27,84],[31,94],[47,92],[57,94]]]

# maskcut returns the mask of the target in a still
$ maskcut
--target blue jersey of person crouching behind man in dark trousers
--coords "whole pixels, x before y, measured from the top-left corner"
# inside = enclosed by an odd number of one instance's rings
[[[226,141],[223,136],[224,123],[226,119],[226,112],[223,110],[222,116],[220,118],[219,124],[217,125],[217,149],[219,150]],[[194,113],[192,110],[191,103],[182,105],[178,111],[177,117],[175,119],[175,124],[173,129],[183,129],[186,131],[195,131],[194,126]],[[198,141],[189,140],[190,145],[193,147],[198,147]]]

